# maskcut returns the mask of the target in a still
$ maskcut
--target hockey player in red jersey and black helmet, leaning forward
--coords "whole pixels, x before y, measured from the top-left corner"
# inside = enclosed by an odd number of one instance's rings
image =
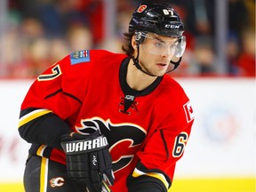
[[[72,52],[37,77],[21,104],[19,132],[32,143],[26,192],[166,192],[194,121],[167,72],[186,46],[168,4],[142,2],[126,54]]]

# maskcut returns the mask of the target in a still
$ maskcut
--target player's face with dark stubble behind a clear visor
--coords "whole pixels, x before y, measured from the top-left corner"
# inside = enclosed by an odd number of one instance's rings
[[[154,76],[164,76],[167,69],[169,70],[177,44],[177,38],[148,34],[140,44],[141,68]]]

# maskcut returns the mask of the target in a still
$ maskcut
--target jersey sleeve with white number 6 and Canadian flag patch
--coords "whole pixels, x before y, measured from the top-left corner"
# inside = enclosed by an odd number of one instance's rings
[[[146,184],[147,181],[155,183],[154,188],[161,188],[159,191],[168,191],[171,188],[175,165],[183,156],[194,122],[193,111],[188,100],[184,100],[184,104],[175,108],[174,111],[175,114],[166,114],[165,111],[165,114],[156,115],[156,118],[161,120],[152,124],[157,127],[156,131],[149,136],[144,149],[138,153],[140,161],[127,184],[132,188],[131,191],[142,188],[141,185]],[[146,186],[148,191],[155,191],[150,189],[149,185]]]

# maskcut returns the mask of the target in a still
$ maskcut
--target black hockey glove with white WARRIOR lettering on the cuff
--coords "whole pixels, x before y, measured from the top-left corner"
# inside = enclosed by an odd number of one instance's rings
[[[99,131],[89,135],[73,133],[61,137],[61,147],[66,153],[68,177],[84,184],[90,192],[111,191],[114,184],[112,159],[108,140]]]

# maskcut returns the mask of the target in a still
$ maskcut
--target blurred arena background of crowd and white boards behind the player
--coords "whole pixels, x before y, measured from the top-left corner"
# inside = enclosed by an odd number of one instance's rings
[[[169,0],[187,48],[173,76],[196,122],[173,192],[255,191],[255,0]],[[36,76],[70,52],[122,52],[139,0],[0,0],[0,191],[23,191],[28,144],[20,104]]]

